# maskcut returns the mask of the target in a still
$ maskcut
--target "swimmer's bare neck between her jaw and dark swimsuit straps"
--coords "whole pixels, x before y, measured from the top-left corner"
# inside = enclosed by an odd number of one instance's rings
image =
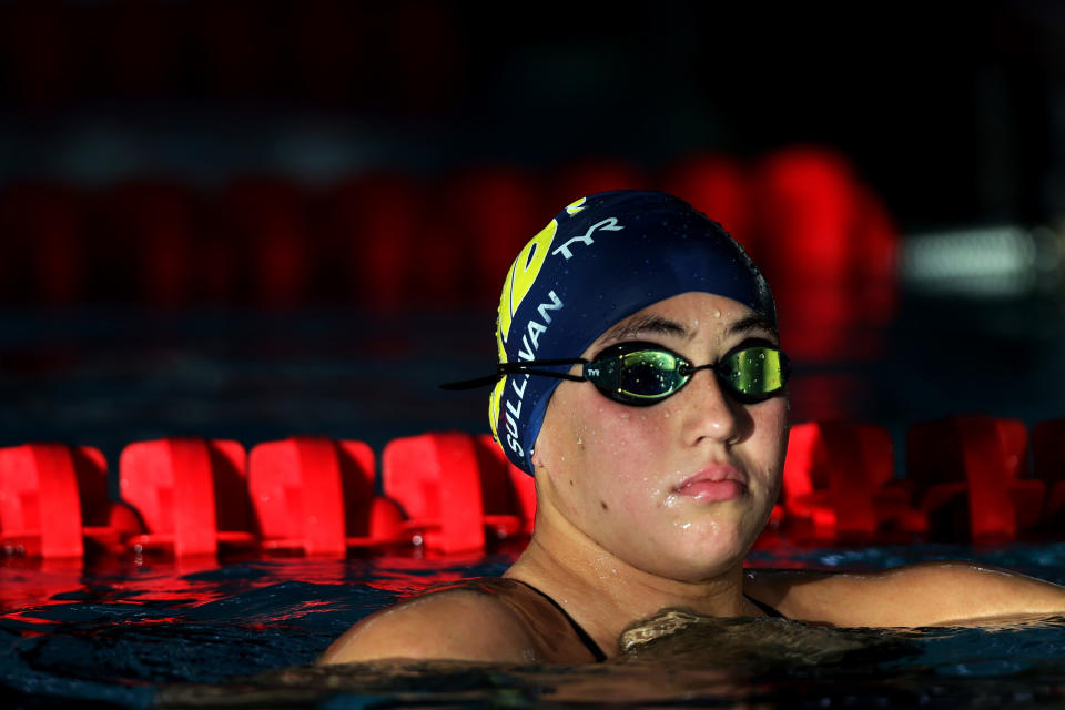
[[[666,578],[611,554],[549,505],[538,508],[536,532],[505,576],[555,599],[608,656],[626,627],[667,607],[718,617],[752,613],[742,559],[698,580]]]

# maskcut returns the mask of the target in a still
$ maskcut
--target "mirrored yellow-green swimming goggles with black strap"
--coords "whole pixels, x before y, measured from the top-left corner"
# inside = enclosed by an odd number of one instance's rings
[[[584,365],[580,375],[541,367]],[[571,382],[590,382],[604,396],[637,407],[658,404],[683,388],[700,369],[711,369],[721,387],[741,404],[764,402],[784,388],[791,374],[788,356],[763,341],[746,341],[717,363],[692,365],[677,353],[655,343],[611,345],[588,361],[535,359],[499,363],[496,374],[440,385],[444,389],[470,389],[490,385],[506,375],[540,375]]]

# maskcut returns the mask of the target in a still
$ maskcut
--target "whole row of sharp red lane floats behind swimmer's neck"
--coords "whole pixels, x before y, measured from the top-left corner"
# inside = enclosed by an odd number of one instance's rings
[[[871,424],[792,427],[782,504],[759,537],[782,542],[994,542],[1065,532],[1065,419],[1033,432],[1015,419],[954,416],[911,427],[894,476],[889,432]],[[428,433],[389,442],[297,436],[255,446],[165,438],[130,444],[123,501],[108,500],[92,447],[0,448],[0,551],[79,560],[90,550],[344,556],[353,548],[484,550],[532,532],[536,490],[488,435]],[[59,564],[59,562],[57,562]]]

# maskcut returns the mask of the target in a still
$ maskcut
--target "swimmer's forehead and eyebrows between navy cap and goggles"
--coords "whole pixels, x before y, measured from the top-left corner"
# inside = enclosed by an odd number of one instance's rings
[[[700,334],[731,335],[762,331],[777,335],[772,321],[744,304],[708,293],[684,293],[653,303],[618,322],[596,338],[596,345],[653,333],[691,339]]]

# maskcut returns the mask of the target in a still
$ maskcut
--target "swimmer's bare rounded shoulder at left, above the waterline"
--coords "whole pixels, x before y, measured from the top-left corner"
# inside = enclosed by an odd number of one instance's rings
[[[529,662],[535,657],[528,625],[500,595],[458,585],[366,617],[334,641],[318,663],[388,658]]]

